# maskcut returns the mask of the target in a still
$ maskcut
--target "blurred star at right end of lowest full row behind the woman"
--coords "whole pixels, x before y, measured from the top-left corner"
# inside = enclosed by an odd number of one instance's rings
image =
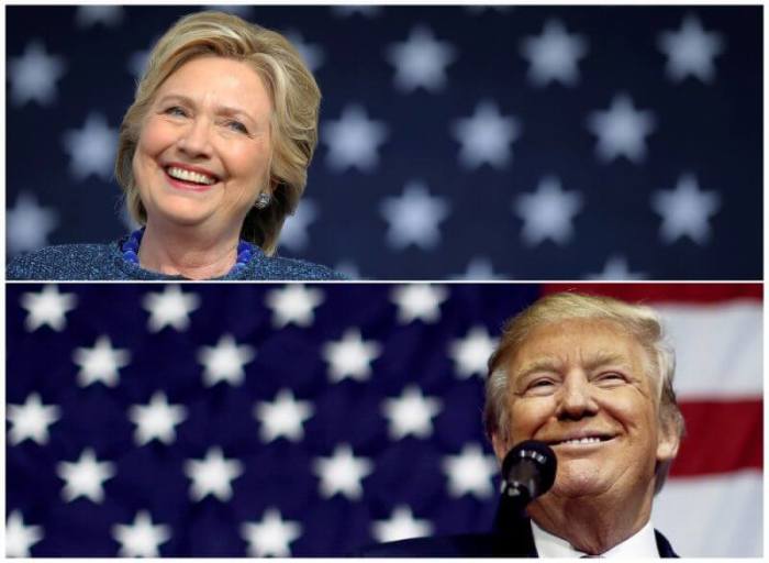
[[[701,191],[693,174],[683,174],[672,190],[658,190],[651,195],[651,208],[662,216],[659,235],[666,243],[689,236],[698,244],[711,238],[707,222],[721,208],[717,191]]]

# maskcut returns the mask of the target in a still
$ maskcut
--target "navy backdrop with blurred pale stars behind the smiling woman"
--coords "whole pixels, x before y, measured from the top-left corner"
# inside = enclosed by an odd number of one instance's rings
[[[118,126],[152,44],[203,8],[5,9],[9,256],[130,229]],[[762,7],[227,9],[323,91],[282,255],[368,279],[761,278]]]

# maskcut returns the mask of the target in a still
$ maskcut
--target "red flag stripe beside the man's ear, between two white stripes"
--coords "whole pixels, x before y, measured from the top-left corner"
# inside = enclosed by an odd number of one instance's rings
[[[680,404],[687,421],[671,476],[710,475],[764,466],[764,402],[687,400]]]

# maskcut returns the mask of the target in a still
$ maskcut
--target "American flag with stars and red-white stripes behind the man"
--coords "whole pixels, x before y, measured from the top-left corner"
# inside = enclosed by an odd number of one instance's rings
[[[561,289],[10,284],[8,554],[330,556],[488,530],[486,361]],[[681,555],[760,556],[762,287],[579,289],[653,305],[678,352],[688,433],[655,526]]]

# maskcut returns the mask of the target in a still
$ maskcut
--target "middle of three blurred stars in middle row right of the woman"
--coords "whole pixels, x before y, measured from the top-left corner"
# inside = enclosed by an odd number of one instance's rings
[[[521,124],[514,117],[504,117],[492,101],[481,101],[471,118],[454,122],[455,139],[461,145],[459,163],[469,170],[483,163],[493,168],[505,168],[511,143],[521,136]]]

